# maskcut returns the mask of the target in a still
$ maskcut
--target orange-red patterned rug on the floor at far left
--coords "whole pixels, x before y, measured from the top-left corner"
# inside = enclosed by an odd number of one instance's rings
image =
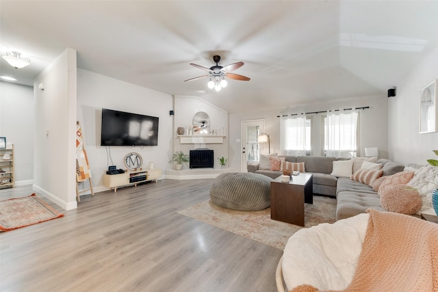
[[[0,202],[0,232],[53,220],[64,216],[52,209],[36,194]]]

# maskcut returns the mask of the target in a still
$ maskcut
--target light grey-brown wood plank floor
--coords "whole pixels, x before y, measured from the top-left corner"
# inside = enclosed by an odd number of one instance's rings
[[[281,250],[177,213],[207,200],[212,181],[81,196],[71,211],[46,200],[64,217],[0,233],[0,291],[276,291]]]

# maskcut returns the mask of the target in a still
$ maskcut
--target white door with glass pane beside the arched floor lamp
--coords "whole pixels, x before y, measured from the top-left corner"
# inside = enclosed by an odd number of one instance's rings
[[[259,162],[260,146],[257,136],[265,129],[265,120],[244,120],[241,125],[241,171],[248,172],[248,163]]]

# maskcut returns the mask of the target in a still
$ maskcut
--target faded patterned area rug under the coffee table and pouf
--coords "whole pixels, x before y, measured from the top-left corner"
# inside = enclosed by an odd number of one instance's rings
[[[336,200],[313,196],[313,204],[305,204],[305,227],[272,220],[270,208],[262,211],[236,211],[219,207],[211,200],[178,213],[283,250],[287,239],[301,228],[335,222]]]

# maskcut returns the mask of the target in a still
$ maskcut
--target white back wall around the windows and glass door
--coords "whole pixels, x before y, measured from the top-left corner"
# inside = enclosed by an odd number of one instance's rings
[[[271,153],[280,153],[280,123],[281,119],[277,116],[283,114],[300,114],[302,112],[325,111],[327,109],[348,109],[351,107],[370,107],[361,110],[361,153],[365,155],[365,147],[378,147],[379,157],[388,157],[387,144],[387,107],[388,98],[386,96],[368,96],[362,98],[352,98],[346,101],[318,103],[313,105],[299,105],[295,107],[285,107],[272,111],[259,111],[255,113],[237,113],[229,116],[229,155],[231,157],[232,168],[240,169],[240,155],[242,145],[236,142],[240,139],[240,122],[242,120],[265,119],[265,133],[270,135]],[[313,114],[313,127],[315,133],[320,133],[321,115]],[[312,136],[313,156],[321,155],[321,136]],[[229,159],[230,161],[230,159]]]

